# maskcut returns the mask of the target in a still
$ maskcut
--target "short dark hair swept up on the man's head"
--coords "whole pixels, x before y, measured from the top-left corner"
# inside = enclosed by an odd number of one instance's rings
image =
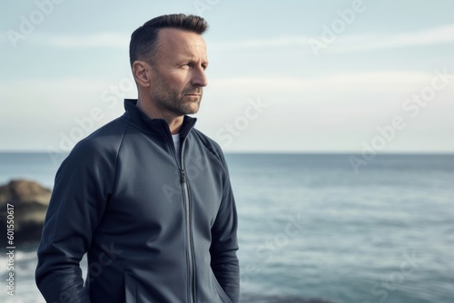
[[[203,34],[208,23],[197,15],[161,15],[137,28],[131,35],[129,44],[129,60],[131,66],[137,60],[153,63],[157,50],[157,37],[160,29],[177,28]]]

